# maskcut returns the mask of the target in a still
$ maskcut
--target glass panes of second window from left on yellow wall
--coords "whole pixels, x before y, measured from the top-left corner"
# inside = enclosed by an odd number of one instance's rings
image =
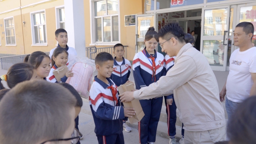
[[[31,14],[33,44],[45,44],[46,41],[46,19],[45,12]]]

